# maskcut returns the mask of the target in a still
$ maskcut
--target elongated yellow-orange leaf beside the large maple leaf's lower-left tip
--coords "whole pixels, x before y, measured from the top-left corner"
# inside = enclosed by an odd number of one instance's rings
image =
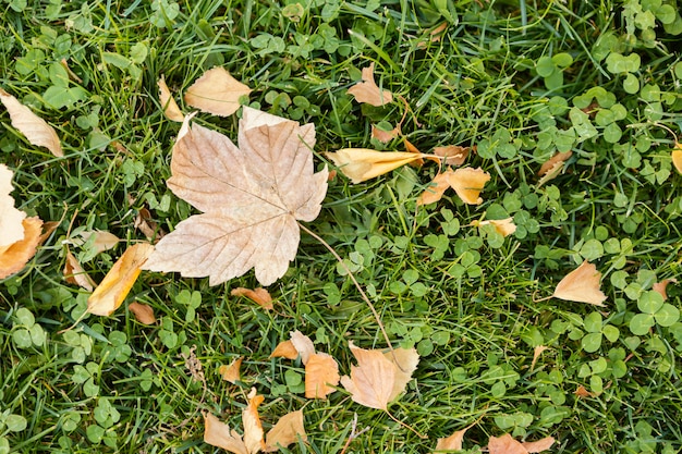
[[[133,287],[141,267],[153,250],[154,246],[147,243],[129,247],[87,299],[86,311],[96,316],[113,314]]]

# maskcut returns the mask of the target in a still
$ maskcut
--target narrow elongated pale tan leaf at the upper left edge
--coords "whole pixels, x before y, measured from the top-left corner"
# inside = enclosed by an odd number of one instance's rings
[[[0,88],[0,102],[10,113],[12,126],[21,132],[31,144],[47,148],[58,158],[64,156],[57,132],[45,120],[2,88]]]

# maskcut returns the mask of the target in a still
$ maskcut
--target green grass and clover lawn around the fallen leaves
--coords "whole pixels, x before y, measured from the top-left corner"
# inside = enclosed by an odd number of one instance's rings
[[[29,145],[0,111],[0,163],[15,171],[16,205],[61,220],[28,266],[0,282],[0,453],[218,452],[203,442],[202,413],[241,431],[252,386],[265,395],[266,428],[303,407],[308,443],[292,453],[341,453],[354,415],[362,434],[346,453],[430,453],[473,422],[467,449],[513,432],[552,435],[552,452],[682,450],[682,323],[638,335],[630,326],[654,282],[682,282],[682,176],[671,164],[675,137],[661,127],[682,126],[678,10],[645,0],[451,1],[448,11],[438,1],[329,0],[301,1],[294,22],[295,8],[265,1],[21,3],[0,0],[0,87],[57,128],[65,157]],[[428,39],[448,15],[456,23]],[[358,185],[339,174],[308,225],[356,269],[393,345],[421,353],[390,409],[428,440],[342,388],[306,401],[303,366],[269,358],[293,330],[342,373],[354,364],[349,341],[386,347],[351,281],[307,235],[269,287],[273,311],[230,296],[256,286],[253,273],[210,287],[143,272],[127,300],[153,306],[157,324],[136,322],[124,305],[59,333],[88,296],[62,275],[70,224],[72,235],[101,229],[123,240],[95,257],[71,246],[99,281],[144,238],[141,209],[165,231],[192,213],[166,187],[179,125],[160,111],[160,75],[178,94],[224,66],[254,88],[252,107],[315,123],[321,168],[322,152],[342,147],[402,150],[373,140],[370,125],[394,126],[403,102],[373,108],[346,95],[370,62],[377,83],[409,102],[411,143],[425,152],[476,146],[467,164],[491,174],[480,206],[451,195],[418,208],[434,163]],[[236,118],[196,121],[236,136]],[[564,171],[539,186],[541,163],[567,149]],[[516,233],[501,241],[467,226],[484,213],[513,217]],[[583,259],[604,275],[606,308],[538,302]],[[668,296],[680,308],[679,284]],[[587,352],[598,335],[586,335],[607,324],[618,339],[602,335]],[[532,367],[538,345],[549,348]],[[206,383],[186,366],[194,347]],[[232,385],[218,367],[239,356],[243,383]],[[579,386],[594,396],[576,396]]]

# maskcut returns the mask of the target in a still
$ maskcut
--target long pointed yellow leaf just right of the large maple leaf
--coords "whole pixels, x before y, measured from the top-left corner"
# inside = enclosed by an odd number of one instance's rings
[[[343,148],[325,154],[353,183],[362,183],[422,159],[409,151],[377,151],[367,148]]]

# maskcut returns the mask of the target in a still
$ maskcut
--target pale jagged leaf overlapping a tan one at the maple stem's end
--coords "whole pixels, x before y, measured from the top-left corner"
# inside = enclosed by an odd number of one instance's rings
[[[395,383],[395,365],[379,351],[358,348],[352,342],[350,348],[357,366],[351,366],[350,377],[341,377],[341,384],[354,402],[387,412]]]

